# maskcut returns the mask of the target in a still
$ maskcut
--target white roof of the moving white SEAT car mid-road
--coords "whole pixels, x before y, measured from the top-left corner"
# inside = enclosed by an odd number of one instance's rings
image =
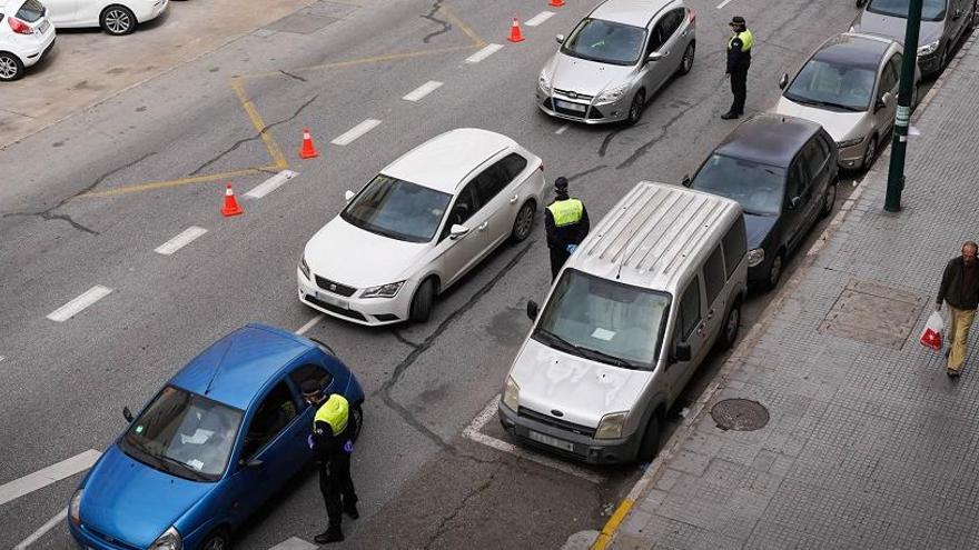
[[[478,128],[458,128],[436,136],[412,149],[380,171],[412,183],[454,193],[479,164],[516,141]]]

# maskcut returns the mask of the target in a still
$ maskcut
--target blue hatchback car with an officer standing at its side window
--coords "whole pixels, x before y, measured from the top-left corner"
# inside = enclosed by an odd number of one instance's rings
[[[221,338],[89,471],[69,503],[71,534],[91,549],[228,548],[231,531],[313,458],[306,380],[346,397],[359,432],[364,391],[329,348],[263,324]]]

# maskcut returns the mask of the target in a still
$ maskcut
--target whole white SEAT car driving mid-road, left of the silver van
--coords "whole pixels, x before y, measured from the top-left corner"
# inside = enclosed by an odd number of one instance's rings
[[[462,128],[385,167],[306,243],[299,300],[360,324],[424,322],[436,294],[531,233],[543,162],[506,136]]]

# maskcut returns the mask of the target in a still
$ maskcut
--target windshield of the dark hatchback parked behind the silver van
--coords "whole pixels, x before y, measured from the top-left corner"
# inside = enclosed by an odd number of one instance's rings
[[[746,213],[777,216],[782,211],[785,170],[714,153],[691,187],[736,200]]]

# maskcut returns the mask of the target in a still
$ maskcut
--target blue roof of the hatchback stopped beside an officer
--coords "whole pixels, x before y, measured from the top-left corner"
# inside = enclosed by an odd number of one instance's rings
[[[281,329],[253,323],[204,350],[170,383],[244,410],[270,379],[314,348]]]

